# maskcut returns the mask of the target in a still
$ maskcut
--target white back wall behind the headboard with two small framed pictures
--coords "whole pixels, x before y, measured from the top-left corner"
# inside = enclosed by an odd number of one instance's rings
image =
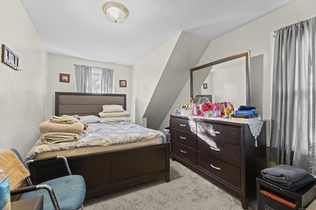
[[[55,114],[55,92],[77,92],[74,64],[114,69],[113,93],[126,94],[127,111],[131,112],[131,66],[48,54],[46,119]],[[59,82],[60,73],[70,74],[70,82]],[[126,80],[126,88],[119,87],[119,80]]]

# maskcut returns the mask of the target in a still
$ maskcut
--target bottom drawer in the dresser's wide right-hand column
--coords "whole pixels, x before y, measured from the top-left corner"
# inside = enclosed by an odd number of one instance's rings
[[[197,151],[197,166],[241,188],[240,168],[199,151]]]

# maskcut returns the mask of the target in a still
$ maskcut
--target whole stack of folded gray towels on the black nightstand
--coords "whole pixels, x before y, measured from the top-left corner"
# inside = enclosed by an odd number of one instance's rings
[[[284,164],[263,169],[261,174],[264,180],[292,191],[296,191],[315,180],[314,176],[308,174],[306,170]]]

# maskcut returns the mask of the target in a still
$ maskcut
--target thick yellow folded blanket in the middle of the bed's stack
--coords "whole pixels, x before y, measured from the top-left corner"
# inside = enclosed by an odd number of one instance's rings
[[[63,133],[77,133],[81,134],[84,125],[81,122],[75,122],[73,124],[54,123],[51,121],[45,121],[40,123],[40,134],[49,132],[63,132]]]

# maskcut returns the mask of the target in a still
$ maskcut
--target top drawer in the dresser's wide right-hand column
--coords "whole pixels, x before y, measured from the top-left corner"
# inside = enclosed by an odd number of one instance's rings
[[[241,127],[197,121],[197,135],[240,146]]]

